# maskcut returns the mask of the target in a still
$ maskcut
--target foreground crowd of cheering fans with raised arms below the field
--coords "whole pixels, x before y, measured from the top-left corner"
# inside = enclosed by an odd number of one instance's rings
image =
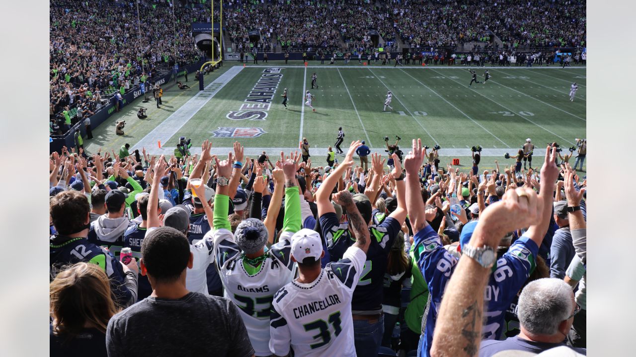
[[[483,172],[307,143],[53,152],[52,356],[585,353],[586,179],[556,143]]]

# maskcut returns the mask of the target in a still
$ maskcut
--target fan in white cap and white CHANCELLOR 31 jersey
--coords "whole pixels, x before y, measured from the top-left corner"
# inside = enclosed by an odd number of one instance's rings
[[[353,160],[342,165],[353,164]],[[321,269],[322,240],[312,229],[291,238],[292,260],[299,276],[281,288],[272,302],[270,351],[276,356],[356,356],[351,300],[366,260],[370,234],[349,191],[334,201],[347,210],[349,227],[356,234],[338,262]]]

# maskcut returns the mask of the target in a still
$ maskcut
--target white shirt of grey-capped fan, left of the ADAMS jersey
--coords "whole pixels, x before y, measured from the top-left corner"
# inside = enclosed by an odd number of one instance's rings
[[[150,227],[146,231],[145,237],[158,227]],[[186,271],[186,289],[195,293],[208,295],[207,291],[207,267],[214,262],[214,245],[212,236],[207,234],[197,243],[190,245],[190,252],[193,255],[192,268]]]

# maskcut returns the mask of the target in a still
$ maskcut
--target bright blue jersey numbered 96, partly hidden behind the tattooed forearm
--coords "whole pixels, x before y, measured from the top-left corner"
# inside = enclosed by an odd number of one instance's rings
[[[446,283],[455,271],[457,259],[448,253],[431,226],[415,234],[415,259],[431,293],[431,308],[427,314],[424,341],[420,356],[431,350],[432,332]],[[522,236],[497,260],[484,291],[485,312],[482,339],[497,339],[504,330],[504,313],[519,289],[535,268],[539,247],[532,239]]]

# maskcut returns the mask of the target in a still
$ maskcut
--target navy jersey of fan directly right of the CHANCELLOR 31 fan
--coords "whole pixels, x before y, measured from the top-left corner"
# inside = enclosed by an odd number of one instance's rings
[[[349,226],[340,224],[336,213],[325,213],[320,217],[322,237],[329,250],[332,262],[342,259],[343,254],[355,239],[349,234]],[[366,262],[360,273],[360,280],[351,304],[353,311],[381,311],[384,286],[384,273],[387,269],[387,255],[399,232],[400,224],[396,219],[387,217],[381,224],[369,227],[371,245],[366,253]]]

